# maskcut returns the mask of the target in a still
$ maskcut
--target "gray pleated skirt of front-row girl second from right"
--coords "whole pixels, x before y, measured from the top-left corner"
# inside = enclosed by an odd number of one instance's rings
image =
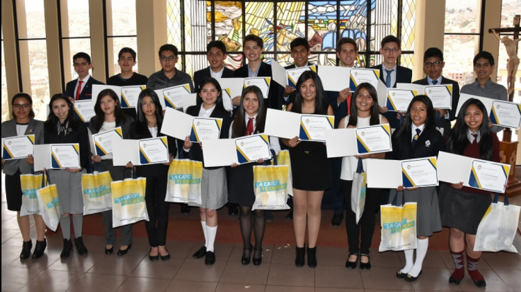
[[[402,204],[402,192],[391,189],[389,204],[398,195],[398,205]],[[416,202],[416,234],[417,236],[431,236],[434,232],[443,229],[441,225],[440,206],[436,186],[418,188],[417,190],[404,190],[405,202]]]

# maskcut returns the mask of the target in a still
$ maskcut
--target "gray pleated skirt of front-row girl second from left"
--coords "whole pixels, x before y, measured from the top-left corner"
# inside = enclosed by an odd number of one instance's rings
[[[81,192],[81,172],[71,173],[66,170],[48,170],[51,184],[56,184],[60,212],[63,214],[83,214],[83,195]]]

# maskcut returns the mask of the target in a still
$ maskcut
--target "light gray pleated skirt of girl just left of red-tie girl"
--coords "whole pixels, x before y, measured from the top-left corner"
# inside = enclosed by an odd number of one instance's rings
[[[201,202],[201,205],[193,203],[189,205],[217,210],[228,202],[228,185],[226,184],[226,170],[224,168],[217,168],[216,170],[203,168]]]

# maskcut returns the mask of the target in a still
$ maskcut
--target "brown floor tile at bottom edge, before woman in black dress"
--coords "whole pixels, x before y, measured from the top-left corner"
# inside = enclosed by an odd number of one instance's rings
[[[304,266],[295,267],[295,263],[272,263],[268,285],[274,286],[315,286],[315,269]]]

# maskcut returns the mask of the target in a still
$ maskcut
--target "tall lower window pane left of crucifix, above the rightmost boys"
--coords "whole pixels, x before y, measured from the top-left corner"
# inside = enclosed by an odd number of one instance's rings
[[[477,42],[479,35],[445,35],[443,75],[458,81],[460,88],[474,80],[472,59]]]

